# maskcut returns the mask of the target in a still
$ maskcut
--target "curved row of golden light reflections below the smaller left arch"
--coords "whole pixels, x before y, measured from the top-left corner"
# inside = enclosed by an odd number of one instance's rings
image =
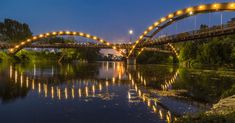
[[[119,68],[119,67],[118,67]],[[36,68],[35,68],[36,69]],[[117,69],[119,71],[119,69]],[[34,70],[36,71],[36,70]],[[23,73],[13,70],[10,66],[10,79],[15,84],[19,84],[21,88],[29,88],[44,97],[52,99],[74,99],[82,97],[102,97],[103,92],[108,92],[108,88],[119,82],[124,84],[126,81],[121,80],[121,71],[118,72],[118,77],[112,79],[71,79],[66,80],[65,84],[56,82],[45,82],[45,78],[40,80],[40,77],[29,77]],[[42,75],[41,75],[42,76]],[[50,80],[50,78],[47,78]],[[109,95],[109,93],[107,93]]]

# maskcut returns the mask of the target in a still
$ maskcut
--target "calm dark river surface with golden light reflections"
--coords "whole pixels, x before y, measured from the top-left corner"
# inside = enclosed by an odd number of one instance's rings
[[[0,64],[1,122],[165,123],[200,112],[235,84],[234,70],[122,62]]]

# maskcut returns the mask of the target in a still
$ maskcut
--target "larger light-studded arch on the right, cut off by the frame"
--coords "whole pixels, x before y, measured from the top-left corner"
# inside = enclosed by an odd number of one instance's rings
[[[185,18],[195,16],[197,14],[205,14],[205,13],[211,13],[211,12],[222,12],[222,11],[235,11],[235,2],[225,2],[225,3],[211,3],[211,4],[202,4],[198,6],[192,6],[184,9],[177,10],[173,13],[168,14],[165,17],[162,17],[158,21],[154,22],[151,26],[149,26],[142,35],[139,36],[139,38],[135,41],[135,43],[132,46],[132,49],[130,50],[127,57],[130,57],[133,53],[133,51],[136,49],[139,43],[143,43],[152,39],[156,34],[158,34],[161,30],[164,28],[170,26],[171,24],[183,20]],[[150,34],[150,35],[148,35]],[[171,44],[168,44],[171,45]],[[172,48],[172,45],[169,46],[172,51],[175,52],[175,48]],[[142,51],[139,52],[139,54]],[[177,56],[177,54],[175,54]]]

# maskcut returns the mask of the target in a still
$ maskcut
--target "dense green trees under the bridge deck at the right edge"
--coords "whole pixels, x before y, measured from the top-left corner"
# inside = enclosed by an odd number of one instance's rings
[[[181,43],[176,47],[181,64],[231,66],[235,63],[235,35]]]

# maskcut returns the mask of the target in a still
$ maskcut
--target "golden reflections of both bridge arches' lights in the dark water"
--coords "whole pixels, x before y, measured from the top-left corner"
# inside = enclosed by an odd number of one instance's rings
[[[16,66],[10,66],[9,77],[12,83],[20,88],[26,88],[42,98],[53,100],[87,99],[100,98],[111,100],[114,96],[110,92],[113,86],[126,85],[129,87],[127,98],[129,103],[145,103],[162,120],[171,122],[176,119],[173,113],[160,102],[157,96],[148,91],[148,79],[138,69],[126,69],[123,63],[102,62],[99,75],[91,78],[81,77],[77,74],[65,74],[68,69],[75,69],[67,65],[67,69],[55,70],[52,66],[50,70],[43,71],[33,65],[33,73],[30,71],[20,72]],[[62,73],[61,73],[62,72]],[[62,83],[57,81],[59,75],[66,78]],[[103,75],[103,76],[102,76]],[[166,84],[175,80],[178,71],[172,77],[166,77]],[[153,80],[156,78],[152,78]],[[135,97],[131,97],[135,93]],[[133,96],[133,95],[132,95]]]

